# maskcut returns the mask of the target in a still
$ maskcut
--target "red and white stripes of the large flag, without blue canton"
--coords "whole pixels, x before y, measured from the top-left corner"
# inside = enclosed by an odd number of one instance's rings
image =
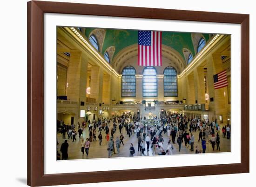
[[[151,31],[151,45],[138,45],[139,66],[162,66],[162,32]]]

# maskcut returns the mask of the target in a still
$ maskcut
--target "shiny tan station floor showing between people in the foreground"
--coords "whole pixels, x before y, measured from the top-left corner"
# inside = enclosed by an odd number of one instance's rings
[[[111,129],[112,124],[110,125],[110,129]],[[66,135],[66,139],[68,140],[68,160],[72,160],[72,159],[90,159],[90,158],[108,158],[108,142],[105,138],[106,134],[104,131],[102,132],[102,143],[101,146],[99,145],[99,140],[98,140],[98,134],[97,134],[97,141],[91,142],[90,148],[89,148],[89,155],[88,157],[86,156],[86,154],[82,155],[81,153],[81,139],[79,139],[78,135],[76,135],[76,141],[72,141],[72,139],[68,139],[67,135]],[[112,155],[112,157],[127,157],[129,156],[129,148],[130,148],[130,143],[133,143],[134,148],[135,148],[135,154],[134,156],[152,156],[152,149],[151,144],[149,146],[149,151],[147,152],[147,150],[144,152],[144,154],[146,155],[141,155],[141,152],[138,152],[138,141],[137,141],[137,137],[136,135],[133,133],[132,136],[129,138],[128,135],[126,134],[125,128],[122,129],[122,133],[125,137],[124,139],[124,146],[121,144],[121,148],[120,148],[120,154],[114,154]],[[195,146],[198,146],[199,149],[202,149],[202,144],[201,141],[198,142],[198,134],[199,131],[196,131],[193,133],[195,136],[195,143],[194,143],[194,150],[195,150]],[[169,140],[169,137],[167,134],[162,134],[163,135],[163,145],[164,145],[164,149],[166,150],[167,148],[167,142]],[[89,136],[89,132],[88,132],[88,128],[85,128],[83,131],[83,134],[81,136],[81,138],[88,138]],[[115,134],[114,134],[114,140],[116,136],[120,136],[119,133],[119,129],[116,130]],[[210,137],[210,136],[209,136]],[[59,142],[59,145],[57,145],[57,150],[60,150],[61,144],[64,142],[64,139],[62,139],[62,135],[61,134],[57,134],[57,139]],[[178,150],[178,144],[176,143],[177,141],[177,137],[175,139],[175,144],[173,144],[174,149],[172,149],[172,155],[178,155],[178,154],[194,154],[194,152],[191,152],[190,146],[185,147],[185,143],[182,143],[182,148],[181,148],[181,152],[179,152]],[[216,150],[216,146],[215,146],[215,150],[213,151],[212,146],[210,143],[206,144],[207,148],[206,148],[206,153],[218,153],[218,152],[230,152],[230,139],[228,140],[227,138],[222,138],[222,132],[221,132],[221,137],[220,137],[220,149]],[[145,145],[145,148],[147,148],[147,145]],[[116,150],[116,148],[115,148]],[[60,151],[59,151],[60,152]]]

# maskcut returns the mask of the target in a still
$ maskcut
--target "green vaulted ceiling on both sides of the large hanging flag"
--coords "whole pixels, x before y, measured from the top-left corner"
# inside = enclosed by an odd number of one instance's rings
[[[89,38],[90,33],[95,28],[86,28],[85,35]],[[209,39],[209,34],[203,34],[206,41]],[[102,46],[102,53],[110,46],[115,46],[115,55],[123,48],[138,43],[138,31],[137,30],[113,30],[106,29],[106,35]],[[191,33],[189,32],[162,32],[162,44],[168,45],[175,49],[185,59],[182,52],[183,48],[189,49],[193,56],[195,56],[195,50],[191,39]]]

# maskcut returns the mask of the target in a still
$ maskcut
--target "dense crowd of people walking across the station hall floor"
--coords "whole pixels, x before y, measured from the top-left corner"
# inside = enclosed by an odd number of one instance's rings
[[[189,149],[191,153],[206,153],[207,144],[211,145],[213,151],[215,147],[216,150],[220,151],[220,133],[222,132],[222,138],[230,138],[230,124],[221,129],[216,120],[210,122],[209,119],[187,118],[182,114],[168,112],[167,115],[161,116],[158,121],[160,123],[148,125],[143,123],[140,116],[123,113],[121,116],[113,116],[112,118],[98,118],[93,121],[88,120],[87,123],[77,123],[76,126],[74,124],[67,126],[62,122],[61,129],[58,130],[62,134],[62,139],[65,139],[60,148],[62,160],[68,159],[66,134],[67,138],[74,142],[77,141],[77,132],[79,141],[81,139],[81,154],[84,155],[85,152],[87,157],[89,148],[96,142],[99,142],[101,146],[104,139],[107,142],[108,157],[112,157],[115,154],[120,155],[121,151],[128,152],[129,156],[143,156],[148,155],[147,152],[150,150],[152,155],[173,155],[175,144],[177,144],[178,152],[181,152],[183,147]],[[84,140],[82,135],[85,130],[88,130],[89,133]],[[197,132],[198,137],[194,136],[195,132]],[[132,142],[129,144],[129,150],[120,149],[121,145],[125,145],[126,139],[135,136],[138,148],[135,148],[135,142]],[[167,143],[164,142],[163,136],[167,136]],[[195,141],[201,143],[196,145],[194,149]],[[137,154],[135,154],[136,152]],[[57,159],[61,159],[59,152],[57,152]]]

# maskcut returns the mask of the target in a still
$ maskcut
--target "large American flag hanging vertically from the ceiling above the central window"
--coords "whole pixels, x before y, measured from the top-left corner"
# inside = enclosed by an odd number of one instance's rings
[[[138,65],[162,66],[162,32],[138,31]]]

